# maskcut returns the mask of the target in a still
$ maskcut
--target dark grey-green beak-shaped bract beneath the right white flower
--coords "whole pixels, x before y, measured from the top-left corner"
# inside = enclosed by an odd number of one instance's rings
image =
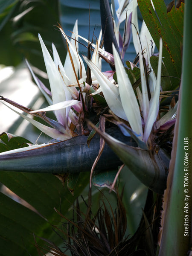
[[[107,133],[95,130],[103,137],[131,172],[149,189],[163,194],[169,169],[169,156],[160,149],[158,153],[122,143]]]

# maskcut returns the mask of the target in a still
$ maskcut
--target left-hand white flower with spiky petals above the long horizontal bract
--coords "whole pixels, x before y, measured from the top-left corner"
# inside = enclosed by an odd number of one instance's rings
[[[73,32],[78,33],[77,22],[75,23]],[[74,35],[72,35],[72,37],[74,38]],[[72,52],[71,56],[73,65],[71,63],[71,59],[68,53],[64,66],[61,63],[55,45],[52,44],[52,59],[49,51],[47,50],[43,42],[43,39],[41,38],[41,35],[39,35],[39,41],[44,56],[44,62],[47,70],[47,76],[49,79],[51,92],[48,92],[47,89],[46,91],[44,90],[42,82],[35,76],[29,63],[27,61],[26,62],[35,82],[37,83],[40,90],[44,93],[44,96],[46,97],[49,106],[47,108],[32,111],[30,109],[24,108],[23,106],[20,106],[15,102],[12,102],[9,99],[5,99],[2,97],[1,100],[15,106],[16,108],[19,108],[26,113],[30,113],[34,116],[39,116],[41,119],[49,123],[49,125],[51,125],[53,128],[48,127],[47,125],[43,125],[41,124],[41,122],[38,122],[30,118],[29,116],[25,116],[12,108],[12,110],[14,110],[20,116],[31,122],[48,136],[56,140],[68,140],[71,137],[76,136],[76,134],[70,129],[70,125],[71,123],[73,123],[73,125],[77,125],[78,114],[82,111],[82,103],[81,101],[77,100],[79,98],[79,92],[75,87],[69,87],[69,85],[76,81],[76,74],[78,75],[79,73],[81,73],[83,74],[83,76],[85,76],[85,68],[84,65],[82,67],[81,63],[79,64],[79,62],[82,62],[82,60],[79,60],[77,56],[78,53],[74,50],[73,39],[71,40],[69,47],[70,51]],[[78,43],[75,44],[75,47],[78,49]],[[11,107],[9,106],[9,108]],[[57,121],[49,119],[41,113],[37,113],[42,111],[54,111]]]

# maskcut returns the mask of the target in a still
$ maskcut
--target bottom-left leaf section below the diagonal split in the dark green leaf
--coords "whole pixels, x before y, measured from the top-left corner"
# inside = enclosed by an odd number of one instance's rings
[[[0,193],[0,255],[26,255],[32,233],[47,224],[41,216]]]

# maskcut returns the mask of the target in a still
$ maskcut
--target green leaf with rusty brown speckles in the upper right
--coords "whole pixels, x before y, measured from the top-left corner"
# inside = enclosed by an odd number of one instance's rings
[[[173,6],[170,13],[167,13],[164,1],[153,0],[153,4],[155,11],[150,0],[138,0],[141,14],[157,48],[159,48],[159,38],[163,39],[163,62],[172,82],[169,90],[174,90],[178,87],[181,76],[180,45],[183,35],[184,4],[181,3],[177,10]]]

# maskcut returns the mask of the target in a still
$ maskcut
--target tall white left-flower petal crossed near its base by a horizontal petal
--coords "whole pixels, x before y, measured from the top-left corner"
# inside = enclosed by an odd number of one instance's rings
[[[49,83],[52,92],[52,102],[56,104],[58,102],[63,102],[66,100],[63,80],[60,73],[58,72],[58,67],[55,66],[54,61],[52,60],[51,55],[49,54],[41,35],[39,35],[39,41],[41,43],[42,52],[44,55],[45,66],[47,69],[47,75],[49,78]],[[67,115],[66,110],[55,111],[55,116],[57,117],[58,122],[67,127]]]

